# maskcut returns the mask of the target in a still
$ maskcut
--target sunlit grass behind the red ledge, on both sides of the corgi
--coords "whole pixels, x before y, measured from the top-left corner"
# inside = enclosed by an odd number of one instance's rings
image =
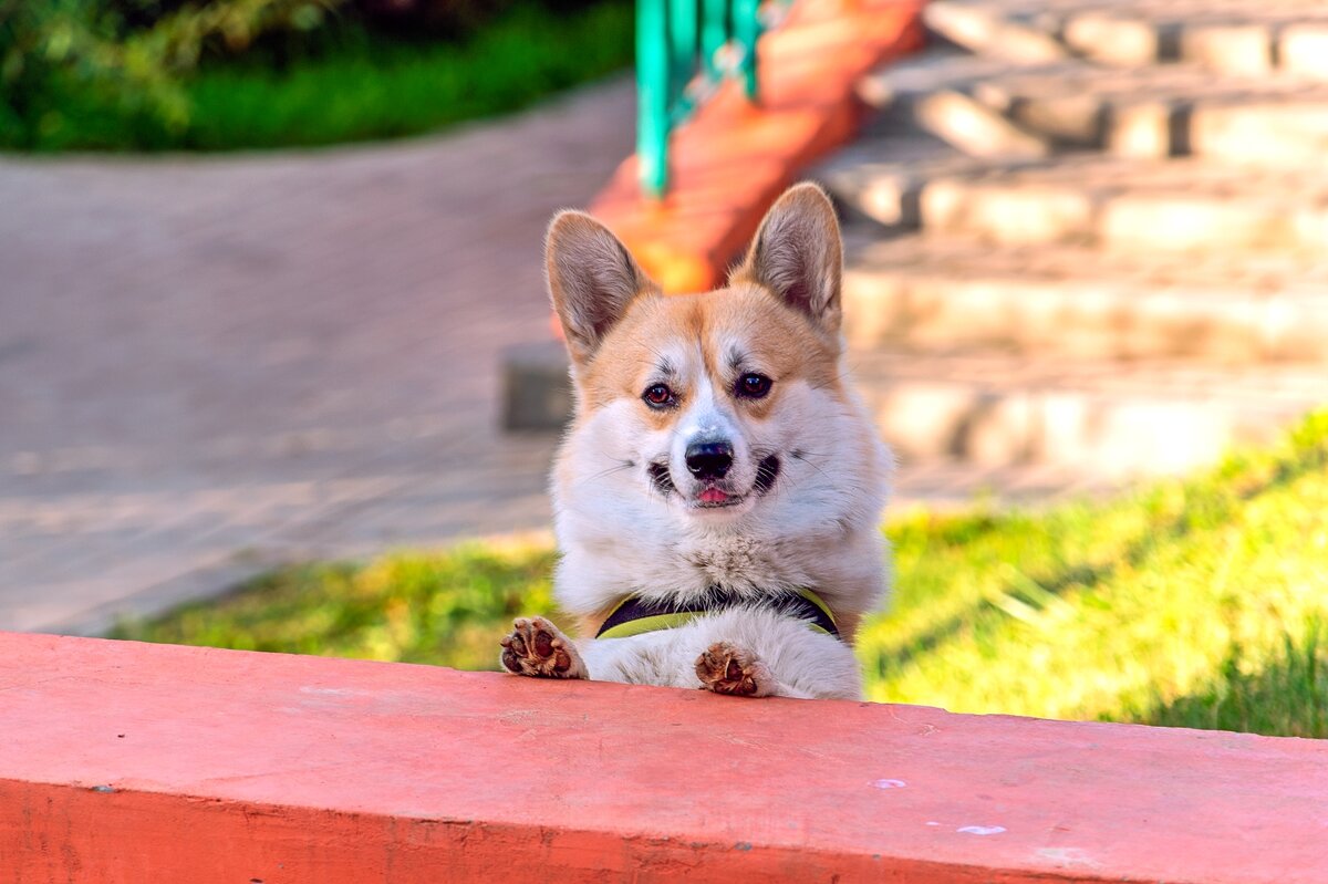
[[[1328,737],[1328,413],[1190,480],[1046,512],[892,522],[872,700]],[[547,546],[320,565],[121,637],[493,668],[550,611]]]

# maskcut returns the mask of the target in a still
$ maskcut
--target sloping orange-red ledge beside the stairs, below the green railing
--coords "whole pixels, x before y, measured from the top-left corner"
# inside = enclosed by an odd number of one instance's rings
[[[858,80],[922,45],[923,0],[798,0],[758,45],[760,106],[726,84],[675,131],[663,202],[643,199],[635,158],[590,211],[669,292],[724,281],[762,214],[798,174],[850,141],[862,121]]]

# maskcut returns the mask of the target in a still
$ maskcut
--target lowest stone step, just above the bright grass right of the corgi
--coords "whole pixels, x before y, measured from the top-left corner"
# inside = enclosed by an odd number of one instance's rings
[[[1066,362],[1000,353],[858,352],[882,435],[906,459],[1177,474],[1264,443],[1328,402],[1321,368]]]

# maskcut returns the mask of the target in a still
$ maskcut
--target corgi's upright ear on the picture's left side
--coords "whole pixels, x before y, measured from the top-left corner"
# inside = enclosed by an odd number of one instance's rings
[[[657,291],[627,247],[586,212],[554,216],[544,240],[544,265],[548,293],[578,365],[595,356],[633,297]]]

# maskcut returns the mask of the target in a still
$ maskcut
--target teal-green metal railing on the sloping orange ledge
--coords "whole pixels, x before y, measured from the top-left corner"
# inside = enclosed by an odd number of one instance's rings
[[[788,0],[773,0],[784,8]],[[669,133],[726,77],[757,101],[761,0],[636,0],[636,157],[641,191],[668,188]]]

